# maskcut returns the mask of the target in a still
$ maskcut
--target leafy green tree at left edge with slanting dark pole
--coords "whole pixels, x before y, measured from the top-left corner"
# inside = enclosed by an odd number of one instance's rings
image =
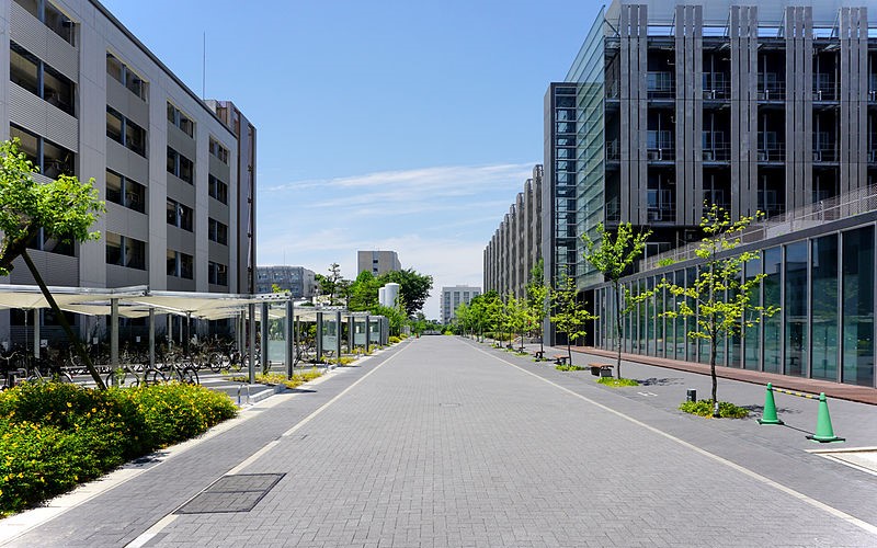
[[[24,260],[73,350],[98,387],[104,389],[106,387],[88,352],[27,254],[27,244],[41,229],[44,238],[65,242],[99,239],[100,232],[89,229],[98,220],[98,215],[105,210],[104,204],[98,199],[93,179],[80,183],[75,176],[61,174],[55,181],[41,184],[34,181],[36,171],[19,150],[18,139],[0,142],[0,231],[3,233],[0,242],[0,275],[8,275],[13,269],[12,262],[19,256]]]

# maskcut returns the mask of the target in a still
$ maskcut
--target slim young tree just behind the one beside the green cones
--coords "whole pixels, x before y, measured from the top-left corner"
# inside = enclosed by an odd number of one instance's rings
[[[622,378],[622,338],[624,335],[622,320],[630,313],[637,300],[630,297],[630,292],[627,288],[622,289],[620,279],[634,264],[634,261],[642,254],[646,249],[646,240],[651,235],[651,230],[635,235],[634,228],[629,222],[622,222],[613,236],[601,222],[596,226],[596,232],[600,235],[599,242],[591,240],[588,235],[582,235],[585,246],[584,260],[612,282],[616,298],[615,347],[618,351],[615,370],[618,378]]]

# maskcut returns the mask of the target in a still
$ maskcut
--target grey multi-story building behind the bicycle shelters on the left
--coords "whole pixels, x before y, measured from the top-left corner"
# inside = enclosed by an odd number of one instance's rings
[[[202,101],[94,0],[0,4],[0,137],[39,167],[93,178],[98,241],[37,238],[49,285],[251,293],[255,129]],[[33,284],[15,264],[10,283]]]

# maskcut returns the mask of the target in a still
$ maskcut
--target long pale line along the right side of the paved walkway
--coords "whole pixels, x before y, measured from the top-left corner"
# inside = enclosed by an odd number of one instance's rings
[[[544,383],[547,383],[547,384],[554,386],[555,388],[558,388],[558,389],[560,389],[560,390],[562,390],[562,391],[565,391],[565,392],[567,392],[567,393],[569,393],[569,395],[571,395],[571,396],[573,396],[576,398],[579,398],[579,399],[581,399],[583,401],[586,401],[586,402],[589,402],[589,403],[591,403],[591,404],[593,404],[593,406],[595,406],[595,407],[597,407],[600,409],[603,409],[604,411],[608,411],[610,413],[613,413],[616,416],[619,416],[619,418],[622,418],[622,419],[624,419],[626,421],[629,421],[629,422],[631,422],[631,423],[634,423],[634,424],[636,424],[636,425],[638,425],[640,427],[643,427],[643,429],[646,429],[646,430],[648,430],[650,432],[653,432],[654,434],[658,434],[658,435],[663,436],[663,437],[665,437],[668,439],[671,439],[671,441],[682,445],[683,447],[687,447],[688,449],[691,449],[691,450],[693,450],[693,452],[695,452],[695,453],[697,453],[699,455],[703,455],[703,456],[705,456],[707,458],[710,458],[710,459],[713,459],[713,460],[715,460],[717,463],[720,463],[720,464],[722,464],[722,465],[725,465],[725,466],[727,466],[727,467],[729,467],[729,468],[731,468],[733,470],[737,470],[737,471],[739,471],[739,472],[741,472],[741,473],[743,473],[745,476],[749,476],[750,478],[752,478],[752,479],[754,479],[756,481],[760,481],[760,482],[762,482],[762,483],[764,483],[766,486],[770,486],[770,487],[772,487],[774,489],[777,489],[777,490],[779,490],[779,491],[782,491],[782,492],[784,492],[784,493],[786,493],[786,494],[788,494],[788,495],[790,495],[790,496],[793,496],[795,499],[798,499],[799,501],[805,502],[805,503],[807,503],[807,504],[809,504],[809,505],[811,505],[813,507],[822,510],[823,512],[827,512],[827,513],[833,515],[834,517],[839,517],[839,518],[845,521],[846,523],[848,523],[851,525],[854,525],[854,526],[856,526],[856,527],[858,527],[858,528],[861,528],[863,530],[866,530],[866,532],[870,533],[872,535],[877,535],[877,526],[875,526],[875,525],[872,525],[872,524],[869,524],[869,523],[867,523],[865,521],[862,521],[862,520],[859,520],[857,517],[854,517],[854,516],[852,516],[852,515],[850,515],[850,514],[847,514],[845,512],[842,512],[842,511],[840,511],[840,510],[838,510],[838,509],[835,509],[833,506],[829,506],[828,504],[825,504],[823,502],[819,502],[816,499],[811,499],[810,496],[807,496],[806,494],[804,494],[804,493],[801,493],[799,491],[796,491],[796,490],[794,490],[794,489],[791,489],[789,487],[786,487],[786,486],[784,486],[782,483],[778,483],[778,482],[776,482],[776,481],[774,481],[774,480],[772,480],[772,479],[770,479],[770,478],[767,478],[765,476],[762,476],[762,475],[760,475],[760,473],[758,473],[758,472],[755,472],[753,470],[750,470],[749,468],[740,466],[737,463],[728,460],[728,459],[726,459],[724,457],[720,457],[720,456],[718,456],[718,455],[716,455],[714,453],[710,453],[710,452],[708,452],[706,449],[702,449],[701,447],[697,447],[696,445],[693,445],[693,444],[691,444],[691,443],[688,443],[688,442],[686,442],[684,439],[681,439],[681,438],[679,438],[679,437],[676,437],[676,436],[674,436],[672,434],[668,434],[667,432],[658,430],[654,426],[650,426],[649,424],[646,424],[645,422],[641,422],[641,421],[639,421],[637,419],[634,419],[633,416],[626,415],[626,414],[622,413],[620,411],[616,411],[615,409],[612,409],[612,408],[610,408],[607,406],[604,406],[603,403],[594,401],[591,398],[588,398],[586,396],[582,396],[582,395],[580,395],[580,393],[578,393],[578,392],[576,392],[573,390],[570,390],[569,388],[566,388],[566,387],[562,387],[562,386],[558,385],[557,383],[554,383],[551,380],[548,380],[547,378],[540,377],[539,375],[536,375],[533,372],[528,372],[528,370],[524,369],[523,367],[521,367],[520,365],[514,364],[512,362],[509,362],[508,359],[503,359],[502,357],[493,355],[492,353],[487,352],[487,351],[485,351],[482,349],[479,349],[477,346],[474,346],[474,347],[475,347],[475,350],[477,350],[478,352],[481,352],[482,354],[486,354],[486,355],[488,355],[488,356],[490,356],[490,357],[492,357],[492,358],[494,358],[494,359],[497,359],[499,362],[502,362],[504,364],[509,364],[512,367],[514,367],[515,369],[517,369],[517,370],[520,370],[522,373],[525,373],[527,375],[531,375],[533,377],[536,377],[537,379],[539,379],[539,380],[542,380]]]

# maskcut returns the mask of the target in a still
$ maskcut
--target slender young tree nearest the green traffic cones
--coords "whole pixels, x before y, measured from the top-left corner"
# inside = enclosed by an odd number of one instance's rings
[[[699,273],[688,287],[672,284],[664,278],[659,288],[680,298],[675,310],[667,310],[662,316],[695,318],[688,336],[709,341],[709,370],[713,377],[713,416],[719,416],[717,399],[718,379],[716,377],[716,349],[722,338],[739,334],[743,328],[751,328],[763,317],[771,317],[779,308],[758,306],[751,300],[752,289],[761,284],[766,274],[755,274],[742,279],[742,266],[759,258],[756,251],[734,253],[740,246],[741,232],[763,214],[741,217],[731,221],[728,212],[717,205],[708,206],[701,220],[706,235],[695,251],[703,261]],[[692,304],[694,306],[692,306]]]

